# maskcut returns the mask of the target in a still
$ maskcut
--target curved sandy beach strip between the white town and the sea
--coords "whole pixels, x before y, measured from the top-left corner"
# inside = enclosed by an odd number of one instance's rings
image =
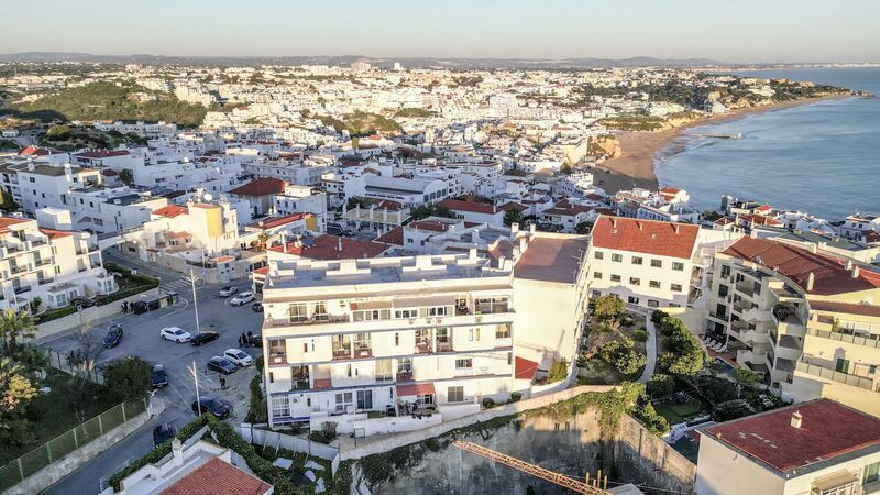
[[[792,107],[812,105],[825,100],[842,98],[854,98],[853,95],[833,95],[818,98],[804,98],[801,100],[781,101],[761,107],[748,107],[732,110],[722,116],[712,116],[697,119],[693,122],[673,129],[659,132],[615,132],[620,142],[620,156],[606,160],[602,165],[592,167],[596,186],[603,188],[608,194],[618,190],[627,190],[632,187],[641,187],[649,190],[657,190],[659,183],[654,174],[653,163],[658,153],[674,143],[675,140],[688,129],[701,125],[717,124],[732,120],[743,119],[756,113],[765,113],[776,110],[783,110]],[[672,156],[685,148],[686,144],[681,143],[668,150],[666,156]]]

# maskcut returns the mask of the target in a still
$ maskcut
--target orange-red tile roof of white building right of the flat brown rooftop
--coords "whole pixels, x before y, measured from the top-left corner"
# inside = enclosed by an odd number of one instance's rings
[[[592,238],[595,248],[690,258],[698,231],[700,227],[689,223],[603,215],[596,219]]]

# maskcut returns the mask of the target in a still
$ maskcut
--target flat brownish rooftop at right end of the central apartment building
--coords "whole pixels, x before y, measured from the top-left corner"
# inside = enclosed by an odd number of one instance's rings
[[[538,234],[519,257],[514,275],[529,280],[574,284],[587,248],[586,238]]]

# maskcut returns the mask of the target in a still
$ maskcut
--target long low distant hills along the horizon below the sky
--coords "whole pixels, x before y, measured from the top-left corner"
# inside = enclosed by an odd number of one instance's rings
[[[151,54],[133,55],[94,55],[89,53],[64,52],[25,52],[0,54],[0,62],[96,62],[105,64],[217,64],[217,65],[350,65],[352,62],[366,59],[378,67],[392,67],[399,63],[405,67],[449,67],[460,69],[473,68],[514,68],[514,69],[587,69],[600,67],[697,67],[717,66],[723,63],[708,58],[433,58],[433,57],[365,57],[361,55],[340,56],[265,56],[265,57],[224,57],[224,56],[165,56]]]

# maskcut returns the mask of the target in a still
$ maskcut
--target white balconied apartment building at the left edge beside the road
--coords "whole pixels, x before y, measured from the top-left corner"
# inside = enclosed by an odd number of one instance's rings
[[[69,229],[69,212],[41,213]],[[61,308],[76,297],[119,289],[88,232],[41,228],[15,217],[0,217],[0,309],[25,309],[36,298],[42,308]]]

